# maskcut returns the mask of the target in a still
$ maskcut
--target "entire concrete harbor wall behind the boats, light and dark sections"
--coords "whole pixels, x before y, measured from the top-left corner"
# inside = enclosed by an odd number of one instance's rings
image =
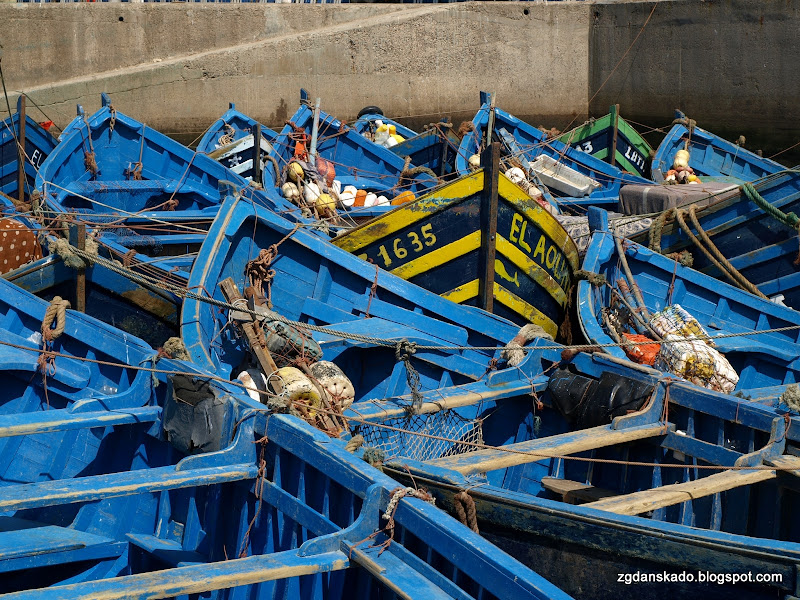
[[[95,110],[102,91],[148,125],[190,135],[229,101],[280,126],[300,87],[345,120],[377,104],[417,123],[469,118],[485,89],[559,128],[619,102],[641,122],[668,124],[680,107],[710,129],[797,139],[799,6],[6,2],[0,44],[11,100],[25,90],[61,127],[76,103]]]

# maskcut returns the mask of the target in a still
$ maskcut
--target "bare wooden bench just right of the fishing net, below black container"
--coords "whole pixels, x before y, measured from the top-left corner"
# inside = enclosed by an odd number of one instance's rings
[[[566,456],[585,450],[595,450],[616,444],[644,440],[667,433],[663,423],[648,423],[637,427],[611,429],[608,425],[591,427],[580,431],[568,431],[526,442],[507,444],[491,450],[478,450],[456,456],[429,461],[428,464],[444,469],[453,469],[462,475],[486,473],[540,460],[552,456]],[[537,456],[535,453],[541,453]]]

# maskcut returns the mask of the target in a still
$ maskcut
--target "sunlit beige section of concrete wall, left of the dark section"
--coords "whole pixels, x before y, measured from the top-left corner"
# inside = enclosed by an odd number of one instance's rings
[[[583,118],[588,15],[584,3],[527,2],[0,6],[12,23],[7,83],[59,125],[106,91],[119,110],[184,133],[202,131],[228,101],[282,125],[300,87],[345,120],[369,104],[471,118],[482,89],[520,115]]]

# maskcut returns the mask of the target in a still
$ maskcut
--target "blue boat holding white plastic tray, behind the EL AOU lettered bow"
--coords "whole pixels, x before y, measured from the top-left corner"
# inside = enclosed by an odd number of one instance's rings
[[[465,175],[470,172],[469,158],[474,154],[480,154],[480,150],[485,145],[486,128],[490,120],[489,115],[492,112],[489,95],[482,93],[481,102],[481,108],[472,121],[473,130],[465,134],[461,140],[461,147],[456,159],[456,171],[459,175]],[[578,211],[582,214],[588,206],[615,207],[622,185],[650,183],[649,180],[643,177],[625,173],[621,169],[613,167],[594,156],[571,148],[564,142],[548,140],[547,136],[536,127],[528,125],[498,108],[494,109],[493,123],[493,139],[497,138],[502,141],[505,137],[513,140],[518,151],[513,151],[508,146],[506,151],[512,153],[514,155],[513,158],[518,162],[530,162],[536,160],[539,156],[546,156],[565,167],[590,177],[599,184],[599,187],[585,197],[558,197],[557,192],[551,189],[550,192],[556,197],[558,207],[564,212]],[[502,130],[505,130],[505,132]]]

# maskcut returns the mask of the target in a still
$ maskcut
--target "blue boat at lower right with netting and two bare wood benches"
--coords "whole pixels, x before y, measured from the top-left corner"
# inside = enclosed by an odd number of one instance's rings
[[[417,416],[407,396],[354,405],[362,451],[576,597],[792,597],[800,420],[782,390],[736,398],[542,345]]]

